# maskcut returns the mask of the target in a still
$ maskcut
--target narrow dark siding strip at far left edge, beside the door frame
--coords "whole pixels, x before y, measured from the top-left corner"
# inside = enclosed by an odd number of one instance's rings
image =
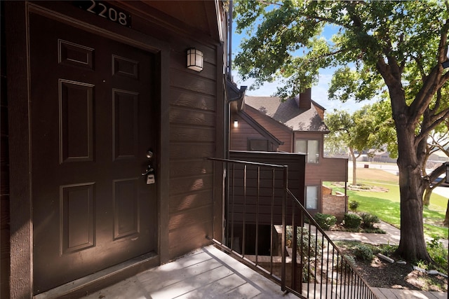
[[[0,298],[9,297],[9,154],[4,1],[0,3]]]

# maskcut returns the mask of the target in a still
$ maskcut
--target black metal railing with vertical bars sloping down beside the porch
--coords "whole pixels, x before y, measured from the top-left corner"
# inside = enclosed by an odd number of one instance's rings
[[[377,298],[304,208],[303,195],[290,191],[287,166],[210,160],[225,172],[217,246],[300,298]]]

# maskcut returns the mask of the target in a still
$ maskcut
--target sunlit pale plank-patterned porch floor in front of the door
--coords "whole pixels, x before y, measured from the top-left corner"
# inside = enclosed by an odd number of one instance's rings
[[[207,246],[83,298],[297,298],[226,253]]]

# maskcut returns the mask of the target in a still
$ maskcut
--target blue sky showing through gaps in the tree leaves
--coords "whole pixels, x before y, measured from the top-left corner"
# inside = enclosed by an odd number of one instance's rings
[[[235,28],[235,25],[234,25]],[[326,39],[330,39],[330,36],[332,36],[335,33],[336,29],[335,27],[328,27],[323,31],[323,36]],[[237,34],[234,30],[232,33],[232,57],[236,56],[237,53],[239,53],[240,50],[240,43],[242,36],[245,36],[245,34]],[[369,104],[368,102],[361,102],[356,103],[354,101],[348,101],[346,103],[342,103],[337,100],[329,100],[328,99],[328,88],[330,84],[330,80],[333,76],[333,71],[335,69],[321,69],[320,71],[320,78],[318,85],[314,85],[311,88],[311,97],[312,99],[323,106],[328,113],[333,112],[334,109],[337,110],[347,110],[349,112],[354,112],[357,109],[360,109],[362,106]],[[235,69],[235,65],[233,64],[232,69],[232,76],[234,78],[234,82],[240,87],[243,85],[250,87],[250,85],[253,83],[253,80],[243,81],[241,77],[239,76],[238,71]],[[281,83],[278,81],[272,82],[272,83],[264,83],[261,88],[258,90],[247,90],[246,95],[253,95],[253,96],[270,96],[273,95],[274,92],[276,92],[276,88]]]

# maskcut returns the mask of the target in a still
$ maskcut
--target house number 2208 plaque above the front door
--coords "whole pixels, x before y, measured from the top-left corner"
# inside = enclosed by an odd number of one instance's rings
[[[80,8],[112,22],[130,27],[130,15],[102,1],[76,1]]]

